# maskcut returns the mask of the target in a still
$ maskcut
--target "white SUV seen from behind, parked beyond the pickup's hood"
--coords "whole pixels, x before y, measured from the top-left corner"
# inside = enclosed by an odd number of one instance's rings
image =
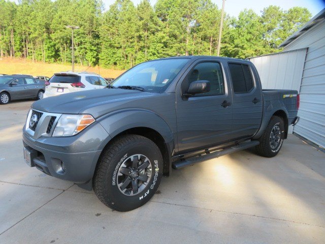
[[[109,83],[103,77],[89,72],[55,73],[46,83],[44,98],[81,90],[100,89]]]

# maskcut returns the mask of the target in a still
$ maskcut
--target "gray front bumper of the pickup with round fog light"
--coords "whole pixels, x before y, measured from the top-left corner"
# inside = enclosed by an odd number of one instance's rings
[[[99,123],[71,137],[32,138],[23,129],[24,147],[31,151],[31,166],[54,177],[83,184],[94,173],[110,136]]]

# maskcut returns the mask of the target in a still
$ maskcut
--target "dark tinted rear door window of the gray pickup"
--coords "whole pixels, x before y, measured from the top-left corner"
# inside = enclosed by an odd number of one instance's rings
[[[248,65],[229,64],[234,93],[248,93],[253,88],[253,79]]]

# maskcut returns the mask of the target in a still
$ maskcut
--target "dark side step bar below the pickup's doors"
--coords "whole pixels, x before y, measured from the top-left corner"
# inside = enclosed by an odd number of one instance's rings
[[[191,166],[196,163],[201,163],[201,162],[209,160],[209,159],[219,158],[223,155],[232,154],[232,153],[235,153],[236,151],[241,151],[241,150],[247,149],[249,147],[257,146],[258,144],[259,144],[259,141],[241,142],[237,145],[225,147],[221,150],[214,151],[213,153],[208,152],[205,155],[194,156],[192,158],[181,159],[179,161],[175,161],[172,163],[172,167],[173,167],[173,169],[181,169],[186,166]]]

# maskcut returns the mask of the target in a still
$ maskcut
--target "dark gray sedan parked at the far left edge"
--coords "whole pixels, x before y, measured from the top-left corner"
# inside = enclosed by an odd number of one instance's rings
[[[18,99],[42,99],[44,90],[44,83],[30,76],[0,76],[0,104],[7,104]]]

